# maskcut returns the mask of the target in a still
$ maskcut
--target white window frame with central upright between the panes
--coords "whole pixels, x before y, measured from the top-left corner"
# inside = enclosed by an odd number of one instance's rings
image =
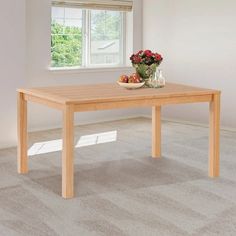
[[[62,6],[63,7],[63,6]],[[52,55],[50,54],[50,68],[51,71],[62,71],[62,70],[86,70],[86,69],[96,69],[96,68],[126,68],[126,12],[120,12],[121,14],[121,40],[120,40],[120,60],[119,63],[114,64],[91,64],[91,11],[87,9],[82,10],[82,65],[81,66],[52,66]],[[52,21],[52,18],[51,18]],[[128,67],[130,68],[130,67]]]

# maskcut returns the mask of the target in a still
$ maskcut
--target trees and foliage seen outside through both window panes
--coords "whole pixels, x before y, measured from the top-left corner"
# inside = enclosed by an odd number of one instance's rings
[[[121,15],[117,12],[93,11],[91,13],[91,41],[120,38]],[[51,66],[70,67],[82,65],[82,28],[65,26],[56,21],[51,25]]]

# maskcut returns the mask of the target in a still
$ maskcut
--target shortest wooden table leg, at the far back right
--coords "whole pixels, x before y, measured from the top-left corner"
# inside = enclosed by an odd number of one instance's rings
[[[152,157],[161,157],[161,106],[152,107]]]

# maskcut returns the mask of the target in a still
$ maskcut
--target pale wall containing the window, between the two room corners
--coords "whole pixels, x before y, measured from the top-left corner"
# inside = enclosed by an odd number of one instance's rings
[[[131,73],[132,69],[118,69],[101,72],[52,72],[48,70],[50,62],[50,0],[27,1],[27,61],[28,82],[32,86],[53,86],[63,84],[90,84],[115,82],[120,74]],[[134,48],[142,47],[142,1],[136,0],[134,7]],[[138,40],[137,40],[138,38]],[[113,110],[80,113],[76,123],[97,122],[119,117],[135,116],[138,109]],[[42,115],[43,114],[43,115]],[[29,107],[30,130],[61,127],[61,113],[39,105]]]

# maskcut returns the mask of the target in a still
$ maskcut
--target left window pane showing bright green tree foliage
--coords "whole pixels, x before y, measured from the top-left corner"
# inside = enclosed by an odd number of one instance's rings
[[[81,66],[83,54],[83,11],[52,8],[52,67]]]

